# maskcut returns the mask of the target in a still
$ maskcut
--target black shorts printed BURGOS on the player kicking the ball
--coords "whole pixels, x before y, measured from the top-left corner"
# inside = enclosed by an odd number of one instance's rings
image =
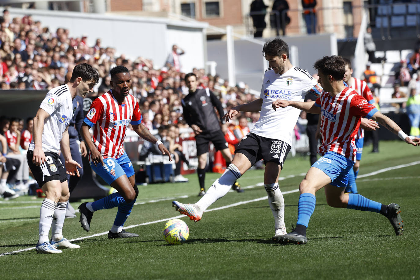
[[[290,145],[276,139],[265,138],[254,133],[248,133],[239,142],[236,153],[244,154],[252,165],[259,160],[276,162],[283,169],[283,163],[290,151]]]

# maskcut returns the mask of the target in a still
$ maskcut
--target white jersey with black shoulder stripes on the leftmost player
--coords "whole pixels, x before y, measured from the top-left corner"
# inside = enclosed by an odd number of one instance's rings
[[[76,107],[73,107],[70,89],[67,84],[51,89],[39,108],[50,114],[44,122],[42,132],[42,150],[44,152],[58,153],[63,132],[73,118]],[[34,150],[34,139],[29,144],[29,149]]]

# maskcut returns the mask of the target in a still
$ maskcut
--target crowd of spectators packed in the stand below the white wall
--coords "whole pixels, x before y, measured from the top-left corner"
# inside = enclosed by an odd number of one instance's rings
[[[88,63],[99,73],[99,82],[90,96],[100,96],[110,89],[110,69],[123,65],[130,71],[130,93],[139,101],[142,122],[147,128],[158,129],[163,126],[166,130],[171,128],[170,125],[181,128],[181,131],[185,131],[182,128],[188,128],[182,117],[181,106],[182,98],[188,94],[185,73],[180,71],[179,60],[173,59],[171,54],[165,65],[160,67],[141,56],[131,60],[123,54],[117,55],[114,48],[102,46],[99,38],[95,45],[89,46],[84,34],[70,37],[68,29],[51,31],[42,26],[41,22],[34,21],[30,15],[11,18],[9,11],[4,10],[0,22],[0,89],[49,90],[64,84],[66,74],[71,73],[76,64]],[[175,45],[173,51],[177,52]],[[192,72],[197,76],[199,86],[208,87],[222,102],[225,110],[257,98],[249,93],[248,86],[243,82],[229,86],[227,80],[206,75],[204,69],[194,68]],[[257,113],[244,115],[250,126],[259,118]],[[2,116],[1,134],[7,134],[10,129],[8,124],[14,117]],[[23,123],[23,120],[19,122]],[[6,137],[8,149],[11,144],[14,145],[13,139],[17,139],[16,133],[13,133],[14,138]],[[181,136],[189,136],[189,133]],[[21,154],[26,153],[27,148],[20,149]],[[13,149],[10,152],[17,153]],[[28,183],[26,180],[24,183],[21,188],[27,191]],[[15,183],[8,186],[15,186]],[[7,186],[3,184],[3,188]],[[8,191],[13,193],[13,190]]]

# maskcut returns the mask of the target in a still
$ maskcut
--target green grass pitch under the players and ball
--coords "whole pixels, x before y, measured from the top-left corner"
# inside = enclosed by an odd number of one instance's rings
[[[306,245],[271,242],[273,216],[262,187],[263,170],[239,179],[245,192],[229,192],[189,226],[189,239],[170,246],[163,225],[179,216],[171,207],[198,200],[197,175],[189,183],[139,186],[139,197],[126,222],[139,238],[109,240],[116,209],[95,212],[85,232],[77,218],[64,223],[64,236],[80,249],[36,254],[39,207],[32,196],[0,199],[0,271],[2,279],[416,279],[420,277],[420,147],[402,141],[380,142],[380,153],[365,147],[359,193],[402,208],[404,233],[395,236],[380,214],[335,209],[318,191]],[[297,220],[297,191],[307,157],[289,157],[281,172],[287,230]],[[207,173],[210,186],[220,174]],[[82,201],[83,202],[83,201]],[[81,202],[73,202],[74,208]],[[210,211],[212,210],[212,211]]]

